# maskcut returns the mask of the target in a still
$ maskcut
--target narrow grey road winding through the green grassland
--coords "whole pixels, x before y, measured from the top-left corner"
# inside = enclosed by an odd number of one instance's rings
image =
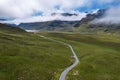
[[[70,44],[64,43],[64,42],[62,42],[62,41],[57,41],[57,40],[54,40],[54,39],[51,39],[51,38],[48,38],[48,37],[45,37],[45,36],[41,36],[41,35],[40,35],[40,37],[45,38],[45,39],[48,39],[48,40],[51,40],[51,41],[55,41],[55,42],[61,43],[61,44],[66,45],[66,46],[68,46],[68,47],[70,48],[70,50],[71,50],[71,52],[72,52],[72,54],[73,54],[73,57],[74,57],[74,60],[75,60],[75,61],[74,61],[74,63],[73,63],[71,66],[67,67],[67,68],[61,73],[61,76],[60,76],[59,80],[65,80],[67,74],[79,63],[79,59],[78,59],[78,57],[77,57],[77,55],[76,55],[73,47],[72,47]]]

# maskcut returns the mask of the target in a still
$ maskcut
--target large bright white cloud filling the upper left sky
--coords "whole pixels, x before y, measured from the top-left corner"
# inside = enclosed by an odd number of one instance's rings
[[[82,6],[85,0],[0,0],[0,16],[23,18],[31,16],[35,11],[45,14],[60,10],[70,11]]]

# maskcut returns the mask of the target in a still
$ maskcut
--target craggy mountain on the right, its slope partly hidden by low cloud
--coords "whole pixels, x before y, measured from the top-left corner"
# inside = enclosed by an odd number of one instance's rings
[[[87,14],[85,18],[80,21],[80,25],[77,25],[77,32],[82,33],[102,33],[102,32],[114,32],[120,33],[120,24],[106,24],[106,23],[93,23],[93,20],[104,17],[107,9],[98,10],[97,13]]]

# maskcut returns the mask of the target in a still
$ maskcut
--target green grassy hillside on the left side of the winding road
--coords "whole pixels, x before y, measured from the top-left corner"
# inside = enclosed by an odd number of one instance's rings
[[[0,80],[58,80],[73,60],[68,47],[0,26]]]

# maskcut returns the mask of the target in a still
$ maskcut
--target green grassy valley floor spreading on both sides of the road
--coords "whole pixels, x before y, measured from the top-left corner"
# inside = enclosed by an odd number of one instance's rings
[[[76,52],[80,63],[65,80],[120,79],[120,36],[117,34],[34,34],[23,30],[15,32],[16,28],[12,31],[5,26],[0,28],[2,80],[59,80],[61,73],[73,64],[69,47],[40,35],[71,44]]]

